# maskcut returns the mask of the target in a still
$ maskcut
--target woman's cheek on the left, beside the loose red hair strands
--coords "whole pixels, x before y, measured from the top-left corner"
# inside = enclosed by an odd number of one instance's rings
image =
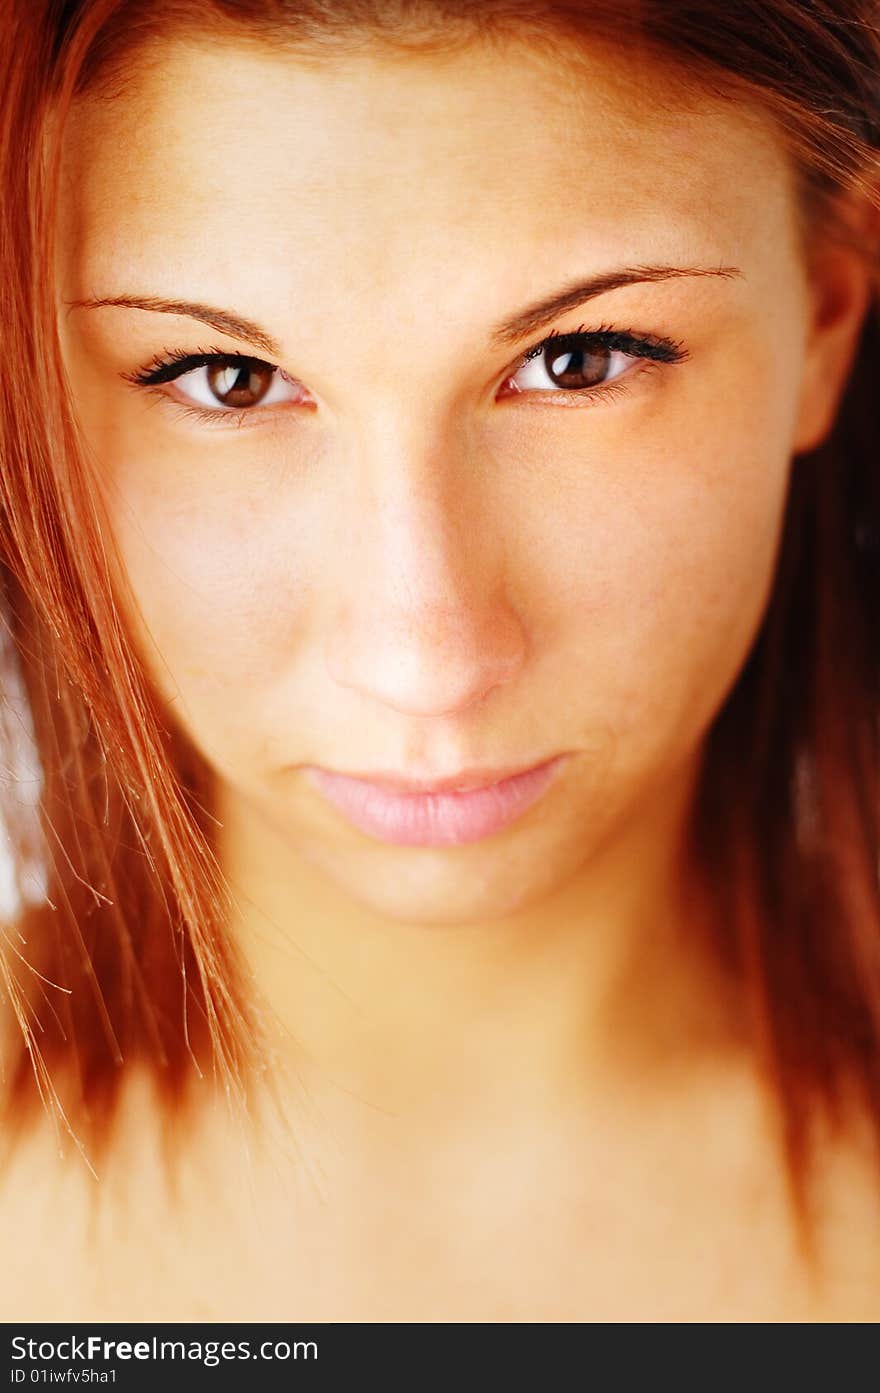
[[[306,642],[316,534],[308,511],[280,507],[265,483],[242,489],[216,461],[199,475],[189,456],[173,465],[164,456],[150,486],[129,456],[114,476],[110,525],[139,651],[196,742],[220,756],[253,729],[242,717],[256,720]]]

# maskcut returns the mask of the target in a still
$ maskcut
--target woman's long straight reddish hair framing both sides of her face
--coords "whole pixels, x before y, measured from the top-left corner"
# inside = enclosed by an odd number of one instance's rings
[[[876,0],[6,0],[0,14],[0,616],[3,762],[21,680],[42,768],[36,815],[0,784],[21,907],[0,970],[10,1123],[40,1099],[100,1149],[127,1067],[167,1110],[202,1067],[241,1098],[259,1034],[224,929],[212,776],[170,724],[125,631],[124,575],[89,490],[49,269],[64,113],[124,81],[139,45],[187,29],[333,52],[476,35],[636,45],[695,95],[762,106],[812,237],[863,237],[877,294],[828,439],[792,471],[774,588],[706,740],[693,847],[712,951],[751,1009],[799,1212],[816,1106],[855,1088],[880,1142],[880,251],[842,195],[880,208]],[[40,846],[42,841],[42,846]],[[42,857],[45,897],[29,890]],[[879,1165],[880,1181],[880,1165]]]

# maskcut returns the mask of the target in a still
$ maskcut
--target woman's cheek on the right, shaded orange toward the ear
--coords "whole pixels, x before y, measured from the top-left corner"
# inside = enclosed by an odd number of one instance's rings
[[[691,403],[564,471],[544,521],[546,641],[618,770],[684,756],[752,646],[773,585],[791,417],[760,393]],[[686,422],[686,425],[685,425]],[[597,433],[597,432],[596,432]],[[537,542],[540,547],[540,542]]]

